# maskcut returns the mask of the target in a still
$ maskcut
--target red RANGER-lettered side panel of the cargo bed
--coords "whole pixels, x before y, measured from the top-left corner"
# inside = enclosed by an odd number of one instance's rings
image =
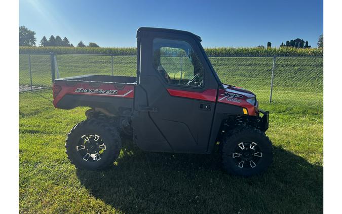
[[[53,91],[55,88],[60,86],[61,90],[54,97],[53,105],[57,108],[57,103],[65,94],[79,94],[79,95],[90,95],[90,96],[111,96],[111,97],[125,97],[125,98],[133,98],[134,97],[134,85],[119,85],[116,86],[110,83],[101,83],[98,87],[92,86],[89,83],[79,82],[74,86],[68,86],[65,82],[57,82],[53,85]],[[84,89],[84,90],[78,90]],[[91,93],[87,92],[86,89],[94,89],[95,91],[102,93]],[[93,91],[94,91],[93,90]],[[81,92],[86,91],[86,92]],[[105,93],[106,92],[106,93]],[[110,92],[115,92],[111,93]]]

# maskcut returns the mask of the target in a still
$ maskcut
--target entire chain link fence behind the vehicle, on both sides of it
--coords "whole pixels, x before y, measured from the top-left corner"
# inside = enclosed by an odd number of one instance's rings
[[[184,60],[178,58],[182,69]],[[251,90],[261,102],[323,105],[323,57],[209,56],[209,59],[223,83]],[[88,74],[136,76],[136,56],[19,55],[19,91],[51,87],[54,78]]]

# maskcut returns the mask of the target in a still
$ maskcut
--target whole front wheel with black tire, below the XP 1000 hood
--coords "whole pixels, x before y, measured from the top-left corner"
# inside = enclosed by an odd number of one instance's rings
[[[272,163],[272,142],[259,129],[247,127],[236,130],[221,143],[222,165],[230,174],[259,174]]]

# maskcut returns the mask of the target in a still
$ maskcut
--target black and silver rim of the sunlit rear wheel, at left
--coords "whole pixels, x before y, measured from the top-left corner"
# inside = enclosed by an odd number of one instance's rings
[[[84,161],[96,162],[105,155],[106,145],[98,134],[85,134],[81,136],[76,151]]]

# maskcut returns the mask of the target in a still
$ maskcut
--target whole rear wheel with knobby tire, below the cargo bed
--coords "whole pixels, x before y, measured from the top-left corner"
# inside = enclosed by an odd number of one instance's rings
[[[104,121],[90,119],[71,129],[65,140],[65,149],[69,160],[76,167],[105,169],[118,158],[121,139],[118,131]]]

